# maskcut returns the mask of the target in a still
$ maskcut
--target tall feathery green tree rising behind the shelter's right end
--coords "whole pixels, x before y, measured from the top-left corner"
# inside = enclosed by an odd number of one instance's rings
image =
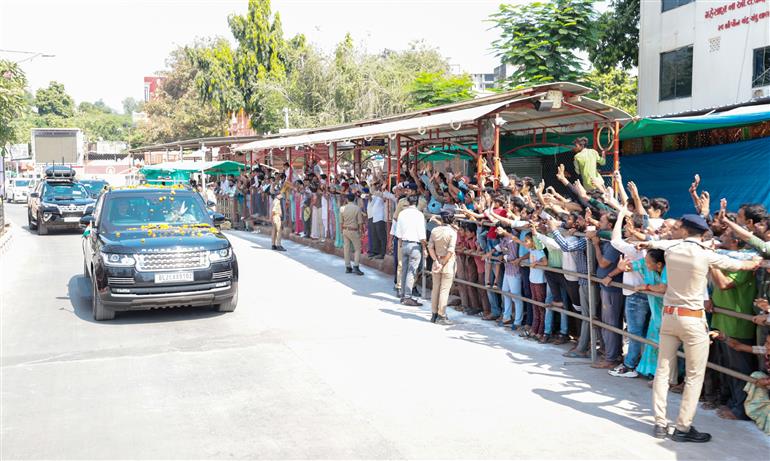
[[[583,75],[578,52],[596,43],[595,0],[550,0],[500,5],[491,16],[500,38],[492,43],[503,63],[514,66],[506,83],[577,81]]]

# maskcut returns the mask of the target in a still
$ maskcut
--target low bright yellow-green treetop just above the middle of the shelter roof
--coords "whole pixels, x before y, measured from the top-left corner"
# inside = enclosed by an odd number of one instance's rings
[[[426,109],[472,99],[472,88],[473,81],[468,74],[447,76],[438,72],[423,72],[412,84],[411,107]]]

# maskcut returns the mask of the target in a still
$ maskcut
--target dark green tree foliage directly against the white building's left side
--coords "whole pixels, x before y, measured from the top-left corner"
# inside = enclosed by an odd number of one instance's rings
[[[596,46],[589,51],[595,68],[630,69],[639,65],[639,0],[612,0],[596,21]]]

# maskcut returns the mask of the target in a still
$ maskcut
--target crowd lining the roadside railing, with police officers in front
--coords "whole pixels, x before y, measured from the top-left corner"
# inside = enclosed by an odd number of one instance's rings
[[[329,177],[314,161],[304,171],[286,163],[220,178],[211,193],[268,217],[278,251],[281,228],[291,226],[294,234],[344,247],[348,273],[363,275],[364,253],[379,260],[392,252],[402,304],[421,304],[415,281],[425,267],[434,323],[451,324],[453,292],[455,309],[466,315],[526,340],[568,343],[566,357],[598,354],[592,366],[614,377],[647,379],[656,437],[708,441],[692,425],[699,402],[725,419],[752,419],[770,434],[767,210],[724,199],[715,206],[699,192],[696,175],[692,213],[672,217],[666,198],[643,196],[617,171],[611,181],[603,178],[605,157],[585,138],[574,152],[577,174],[568,178],[560,165],[556,187],[508,175],[499,161],[484,162],[481,183],[429,162],[388,181],[371,170]],[[608,328],[592,334],[585,320],[592,313],[632,336],[624,341]],[[753,381],[707,369],[707,361]],[[669,390],[683,394],[672,430]]]

